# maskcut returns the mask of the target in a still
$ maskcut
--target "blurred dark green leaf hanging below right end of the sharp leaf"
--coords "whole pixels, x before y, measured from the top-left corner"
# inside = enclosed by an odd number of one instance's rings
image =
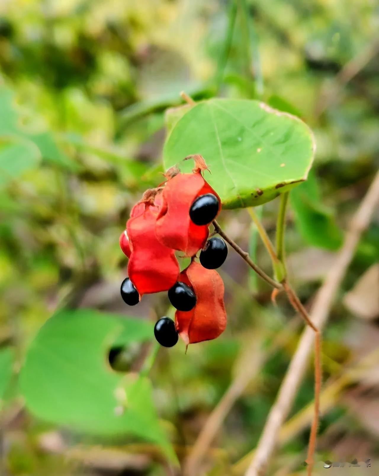
[[[310,173],[308,180],[290,193],[290,202],[300,235],[312,246],[338,249],[343,234],[333,211],[322,205],[316,176]]]

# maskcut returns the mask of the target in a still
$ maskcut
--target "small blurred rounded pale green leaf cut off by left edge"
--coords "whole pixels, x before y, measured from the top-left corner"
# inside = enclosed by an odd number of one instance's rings
[[[0,188],[23,172],[33,169],[41,159],[39,149],[30,141],[7,142],[0,149]]]

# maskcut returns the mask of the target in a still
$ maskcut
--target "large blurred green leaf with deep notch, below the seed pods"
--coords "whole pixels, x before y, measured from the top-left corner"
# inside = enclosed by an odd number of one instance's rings
[[[114,372],[107,359],[113,345],[143,342],[152,334],[151,323],[141,319],[85,309],[58,312],[41,327],[21,369],[26,407],[42,420],[84,433],[143,438],[175,460],[150,381]]]

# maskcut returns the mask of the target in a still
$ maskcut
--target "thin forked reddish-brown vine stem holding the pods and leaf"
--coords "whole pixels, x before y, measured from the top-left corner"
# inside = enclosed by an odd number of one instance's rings
[[[249,257],[248,253],[240,248],[236,242],[229,238],[225,232],[220,228],[220,225],[217,223],[216,220],[213,221],[213,225],[215,227],[215,231],[225,239],[227,243],[243,258],[246,263],[252,268],[258,276],[264,279],[268,284],[270,284],[273,288],[273,297],[278,292],[284,291],[287,294],[288,301],[292,305],[292,307],[300,314],[303,320],[306,322],[307,326],[311,327],[315,333],[315,405],[314,405],[314,416],[312,420],[310,435],[309,435],[309,444],[308,444],[308,453],[307,453],[307,474],[310,476],[312,474],[312,468],[314,464],[314,453],[316,449],[316,440],[317,440],[317,428],[318,428],[318,414],[319,414],[319,398],[320,398],[320,390],[321,390],[321,334],[318,328],[313,324],[311,321],[307,310],[301,304],[300,299],[297,297],[295,291],[290,287],[288,280],[287,280],[287,270],[286,264],[284,259],[284,230],[285,230],[285,218],[286,218],[286,207],[288,201],[288,192],[281,195],[281,201],[279,206],[279,214],[277,220],[277,252],[275,253],[274,247],[271,244],[270,239],[266,234],[266,230],[263,228],[262,224],[256,217],[255,212],[252,208],[248,210],[250,216],[253,218],[253,221],[256,224],[258,232],[270,254],[270,257],[273,262],[273,268],[278,281],[270,278],[266,275],[266,273],[260,269]],[[280,279],[280,282],[279,282]],[[249,472],[247,473],[250,476]],[[251,475],[253,476],[253,475]]]

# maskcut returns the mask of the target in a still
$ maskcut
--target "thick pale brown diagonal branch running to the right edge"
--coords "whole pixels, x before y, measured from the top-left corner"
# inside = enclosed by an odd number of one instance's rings
[[[337,290],[354,254],[362,232],[369,226],[371,215],[379,201],[379,172],[376,174],[366,196],[350,222],[344,244],[337,255],[336,262],[330,268],[324,284],[319,289],[311,312],[311,322],[321,329],[328,317]],[[254,452],[246,476],[262,476],[266,474],[269,459],[277,444],[279,429],[286,419],[297,388],[307,367],[307,357],[313,341],[313,330],[307,328],[300,338],[297,350],[292,357],[287,374],[279,389],[277,400],[266,420],[261,438]]]

